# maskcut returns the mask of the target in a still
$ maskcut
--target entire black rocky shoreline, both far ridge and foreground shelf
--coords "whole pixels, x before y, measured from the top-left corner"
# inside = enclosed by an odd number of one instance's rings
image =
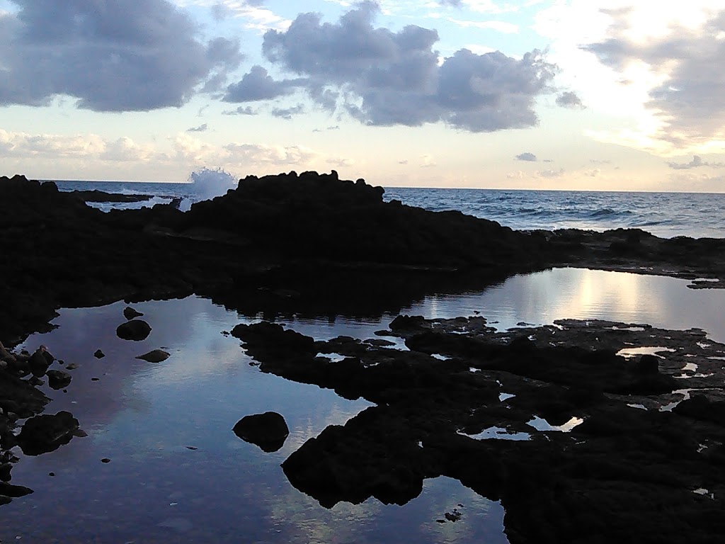
[[[23,420],[25,429],[44,418],[43,440],[55,447],[80,432],[71,414],[40,416],[48,399],[33,379],[63,383],[63,371],[49,369],[55,358],[41,347],[12,349],[51,327],[62,307],[196,293],[248,315],[379,315],[430,292],[484,289],[554,266],[725,287],[724,240],[519,232],[384,202],[382,194],[334,172],[293,172],[249,176],[186,213],[173,205],[102,213],[86,205],[88,195],[0,178],[0,503],[22,492],[8,482]],[[405,339],[409,352],[389,349],[385,337],[315,342],[270,324],[233,334],[262,371],[376,403],[283,465],[293,485],[325,506],[370,496],[405,503],[423,478],[445,474],[502,501],[512,543],[725,535],[717,515],[725,346],[702,331],[562,321],[497,333],[483,318],[401,317],[383,334]],[[617,355],[653,345],[674,352]],[[325,353],[344,360],[318,356]],[[692,388],[701,391],[682,391]],[[532,430],[539,419],[550,429]],[[555,429],[572,419],[582,421]],[[502,440],[523,434],[529,440]]]

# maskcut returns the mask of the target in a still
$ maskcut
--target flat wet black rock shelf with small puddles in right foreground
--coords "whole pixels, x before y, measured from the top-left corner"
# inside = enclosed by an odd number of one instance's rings
[[[502,501],[512,543],[725,536],[725,345],[703,331],[558,321],[497,332],[484,318],[407,317],[391,329],[410,352],[268,323],[233,330],[260,370],[376,403],[284,461],[323,506],[406,503],[445,475]],[[617,355],[647,347],[656,373],[647,356]],[[684,400],[693,388],[701,396]]]

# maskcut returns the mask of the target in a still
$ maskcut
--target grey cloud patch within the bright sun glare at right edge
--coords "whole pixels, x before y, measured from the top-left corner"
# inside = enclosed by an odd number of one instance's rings
[[[586,47],[605,65],[624,73],[637,63],[650,67],[660,83],[648,91],[647,108],[661,126],[656,137],[674,147],[722,139],[725,132],[725,10],[706,13],[699,25],[671,25],[667,32],[639,39],[631,9],[609,11],[608,38]]]

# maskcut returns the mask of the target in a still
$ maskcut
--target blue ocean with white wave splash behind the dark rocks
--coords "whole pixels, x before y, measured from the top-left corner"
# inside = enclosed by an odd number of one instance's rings
[[[236,180],[223,170],[199,170],[189,183],[57,181],[62,191],[99,189],[112,193],[149,194],[146,202],[93,204],[102,210],[152,206],[181,198],[193,202],[224,194]],[[613,191],[505,191],[498,189],[418,189],[386,187],[384,199],[426,210],[460,210],[498,221],[516,230],[642,228],[656,236],[725,237],[725,194]]]

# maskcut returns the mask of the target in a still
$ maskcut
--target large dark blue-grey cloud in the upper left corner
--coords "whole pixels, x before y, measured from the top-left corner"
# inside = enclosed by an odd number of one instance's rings
[[[70,95],[96,111],[178,107],[218,88],[239,65],[239,44],[199,38],[167,0],[11,0],[0,17],[0,105]]]

